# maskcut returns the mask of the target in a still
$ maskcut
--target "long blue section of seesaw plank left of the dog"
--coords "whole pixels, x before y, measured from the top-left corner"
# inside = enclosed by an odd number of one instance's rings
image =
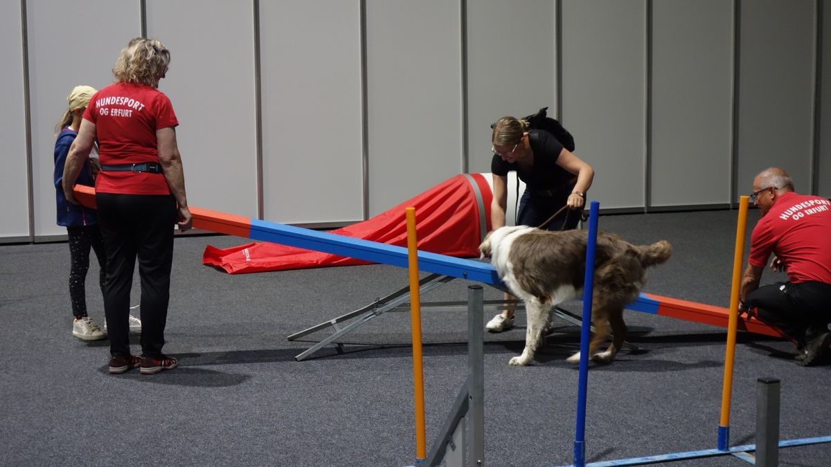
[[[363,259],[373,263],[389,264],[400,268],[409,266],[407,248],[372,242],[362,238],[344,237],[327,232],[318,232],[317,230],[303,229],[293,225],[251,219],[250,238],[337,254],[348,258]],[[496,273],[496,268],[489,263],[424,251],[418,252],[418,263],[419,269],[427,273],[437,273],[451,278],[467,279],[491,285],[502,285],[499,274]]]

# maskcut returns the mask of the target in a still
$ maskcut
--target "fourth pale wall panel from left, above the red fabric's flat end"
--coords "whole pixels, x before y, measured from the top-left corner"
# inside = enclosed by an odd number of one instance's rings
[[[265,219],[362,220],[360,3],[260,2],[259,17]]]

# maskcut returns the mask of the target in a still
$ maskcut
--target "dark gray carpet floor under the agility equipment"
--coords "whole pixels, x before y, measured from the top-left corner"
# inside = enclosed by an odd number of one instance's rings
[[[674,255],[650,272],[645,292],[726,306],[735,211],[608,215],[600,229],[632,243],[668,239]],[[750,226],[758,214],[751,213]],[[416,462],[410,317],[388,312],[344,337],[344,353],[287,336],[407,284],[384,265],[241,276],[205,267],[206,244],[177,238],[165,351],[179,368],[154,376],[106,371],[108,343],[71,337],[66,243],[0,246],[0,465],[413,465]],[[87,278],[90,314],[103,320],[97,265]],[[784,276],[766,272],[764,282]],[[422,301],[464,300],[457,280]],[[138,282],[133,291],[138,303]],[[485,298],[500,297],[485,288]],[[579,313],[580,302],[565,307]],[[489,319],[488,312],[484,317]],[[588,380],[587,460],[716,447],[725,330],[627,312],[629,341]],[[435,440],[467,371],[463,311],[422,313],[426,431]],[[508,365],[524,345],[524,314],[484,342],[486,465],[572,461],[578,371],[564,361],[579,329],[548,336],[534,366]],[[137,337],[134,351],[140,351]],[[740,334],[730,445],[755,442],[756,380],[781,381],[783,440],[831,435],[831,366],[794,364],[793,346]],[[831,465],[831,444],[779,452],[780,465]],[[745,465],[730,456],[673,465]]]

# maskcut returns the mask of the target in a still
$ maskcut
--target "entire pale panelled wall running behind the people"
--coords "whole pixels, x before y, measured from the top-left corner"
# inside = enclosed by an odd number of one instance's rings
[[[819,194],[831,196],[827,25],[818,172],[811,171],[816,0],[739,2],[735,134],[729,116],[735,2],[562,0],[561,63],[554,48],[556,0],[468,0],[465,56],[462,0],[366,0],[363,31],[361,2],[258,2],[262,193],[253,0],[27,0],[28,129],[21,5],[0,2],[0,37],[7,46],[0,79],[9,90],[0,97],[5,110],[0,135],[7,147],[0,242],[31,234],[29,209],[36,238],[65,234],[55,225],[54,125],[72,86],[111,83],[120,48],[140,35],[142,4],[148,35],[172,52],[160,89],[181,121],[189,200],[199,207],[256,217],[262,195],[264,217],[280,222],[334,224],[372,216],[460,173],[465,163],[470,172],[489,172],[489,124],[543,106],[556,114],[558,88],[560,118],[576,138],[575,152],[597,170],[590,198],[599,199],[603,209],[724,204],[735,201],[729,199],[731,183],[746,193],[753,175],[770,165],[789,170],[801,191],[809,189],[813,175]],[[652,5],[650,76],[647,4]],[[826,4],[822,19],[829,18]],[[647,85],[652,93],[648,167]],[[32,135],[31,206],[26,130]],[[738,149],[733,174],[730,137]]]

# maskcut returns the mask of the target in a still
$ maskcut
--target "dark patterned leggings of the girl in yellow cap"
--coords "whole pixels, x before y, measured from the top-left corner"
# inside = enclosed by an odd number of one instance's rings
[[[101,267],[98,282],[101,293],[104,293],[106,282],[106,256],[104,253],[104,239],[97,225],[67,227],[69,237],[69,297],[72,302],[72,314],[75,317],[86,317],[86,272],[90,268],[90,248],[95,250],[98,265]]]

